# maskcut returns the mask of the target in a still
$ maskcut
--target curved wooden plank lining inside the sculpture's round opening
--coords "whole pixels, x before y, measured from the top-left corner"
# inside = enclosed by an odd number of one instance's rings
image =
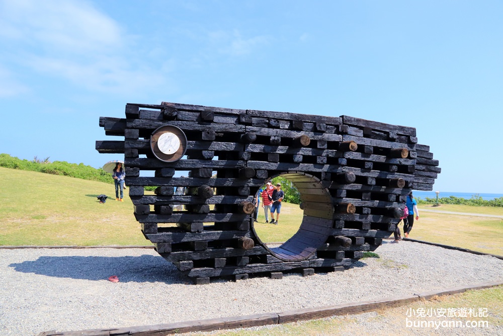
[[[279,176],[291,181],[299,191],[300,207],[303,210],[302,222],[297,232],[281,246],[268,247],[267,244],[261,243],[282,261],[306,260],[331,234],[334,213],[332,198],[320,180],[312,175],[287,172]],[[255,229],[254,233],[259,237]]]

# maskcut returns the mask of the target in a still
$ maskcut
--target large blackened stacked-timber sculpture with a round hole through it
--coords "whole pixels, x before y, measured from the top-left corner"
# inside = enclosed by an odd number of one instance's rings
[[[196,284],[344,270],[390,236],[406,195],[432,190],[440,173],[415,128],[345,115],[163,102],[127,104],[125,118],[101,117],[100,126],[124,137],[96,149],[124,153],[143,235]],[[251,214],[275,176],[299,190],[304,216],[288,241],[269,247]]]

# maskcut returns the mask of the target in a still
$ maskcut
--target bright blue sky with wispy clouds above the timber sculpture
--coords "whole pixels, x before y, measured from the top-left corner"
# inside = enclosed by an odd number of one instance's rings
[[[503,193],[500,1],[0,0],[0,153],[96,168],[126,103],[412,126],[434,190]],[[119,157],[120,158],[120,157]]]

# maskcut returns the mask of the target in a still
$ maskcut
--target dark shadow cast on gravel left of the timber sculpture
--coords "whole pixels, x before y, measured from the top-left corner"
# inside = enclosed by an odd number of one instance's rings
[[[141,256],[41,256],[37,260],[11,263],[17,272],[47,277],[81,280],[108,280],[117,276],[120,282],[161,282],[189,284],[171,262],[153,255]]]

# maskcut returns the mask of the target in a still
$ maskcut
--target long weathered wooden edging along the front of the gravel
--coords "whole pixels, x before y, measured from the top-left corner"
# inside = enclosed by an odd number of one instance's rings
[[[280,313],[264,313],[255,315],[212,318],[197,321],[176,322],[157,325],[145,325],[125,328],[92,329],[80,331],[43,331],[38,336],[164,336],[191,331],[212,331],[218,329],[247,328],[280,323],[290,323],[299,320],[311,320],[336,315],[360,314],[368,311],[399,307],[422,299],[428,300],[435,296],[463,293],[467,290],[477,290],[503,285],[503,282],[486,282],[468,287],[453,287],[440,291],[428,291],[413,295],[395,296],[376,301],[364,301],[318,308],[288,310]]]

